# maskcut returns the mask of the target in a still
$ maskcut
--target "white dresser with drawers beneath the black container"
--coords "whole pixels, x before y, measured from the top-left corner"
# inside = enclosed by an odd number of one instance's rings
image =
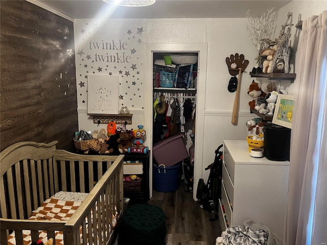
[[[227,227],[254,219],[283,238],[289,161],[250,156],[246,140],[224,140],[219,220]],[[228,225],[229,226],[228,226]]]

